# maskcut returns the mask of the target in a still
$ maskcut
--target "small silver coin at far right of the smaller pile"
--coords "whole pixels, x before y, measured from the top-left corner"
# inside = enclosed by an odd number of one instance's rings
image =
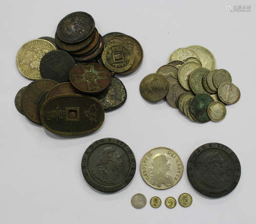
[[[218,96],[224,104],[234,104],[240,99],[241,93],[233,83],[222,83],[218,89]]]

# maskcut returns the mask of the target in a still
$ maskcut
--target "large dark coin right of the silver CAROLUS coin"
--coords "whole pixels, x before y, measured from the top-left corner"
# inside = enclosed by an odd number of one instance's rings
[[[238,184],[241,165],[226,145],[207,143],[198,147],[187,161],[187,176],[193,187],[208,197],[222,197]]]

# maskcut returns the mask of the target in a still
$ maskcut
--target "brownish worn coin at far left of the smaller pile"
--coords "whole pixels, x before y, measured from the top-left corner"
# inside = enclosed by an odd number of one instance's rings
[[[168,92],[168,81],[162,74],[148,74],[140,83],[140,94],[150,102],[160,101]]]

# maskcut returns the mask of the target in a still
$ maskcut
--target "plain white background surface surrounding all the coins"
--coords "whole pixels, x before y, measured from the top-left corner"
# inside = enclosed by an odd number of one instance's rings
[[[227,12],[226,5],[250,5],[251,12]],[[255,1],[1,1],[1,149],[0,223],[255,223]],[[122,32],[142,45],[140,68],[122,77],[126,103],[105,114],[102,127],[83,137],[59,137],[34,125],[14,106],[17,91],[31,81],[16,68],[16,54],[25,42],[54,37],[60,19],[74,11],[90,13],[100,34]],[[190,122],[165,101],[146,102],[140,81],[168,62],[179,47],[202,45],[215,55],[217,68],[227,69],[241,90],[226,118],[204,124]],[[104,194],[84,181],[80,163],[86,148],[104,137],[127,143],[137,160],[133,181],[123,190]],[[229,146],[238,156],[242,175],[229,195],[206,198],[186,175],[189,155],[207,142]],[[184,163],[181,181],[168,190],[147,186],[139,172],[151,148],[173,148]],[[141,192],[147,205],[131,206]],[[167,196],[188,192],[193,204],[167,209]],[[162,206],[151,208],[152,196]]]

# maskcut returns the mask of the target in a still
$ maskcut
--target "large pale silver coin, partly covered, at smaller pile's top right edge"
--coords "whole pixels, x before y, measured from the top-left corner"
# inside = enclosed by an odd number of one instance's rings
[[[199,45],[192,45],[187,48],[198,55],[203,68],[207,68],[210,71],[216,69],[215,57],[208,49]]]

